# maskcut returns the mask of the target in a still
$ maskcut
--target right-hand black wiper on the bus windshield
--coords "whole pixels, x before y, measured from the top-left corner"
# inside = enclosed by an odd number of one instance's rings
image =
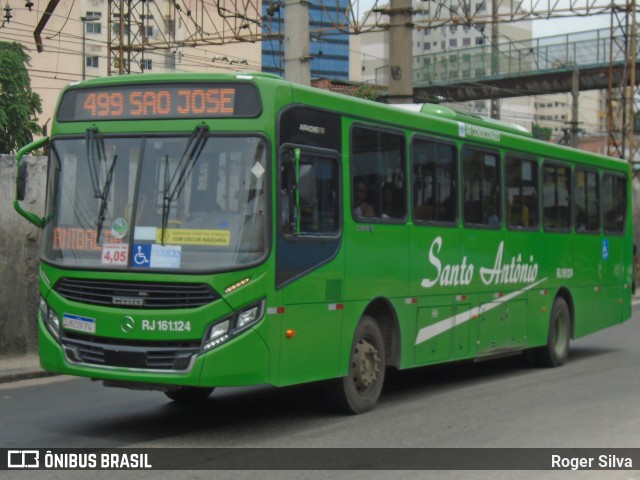
[[[171,179],[169,179],[169,157],[165,156],[164,191],[162,195],[162,234],[160,238],[162,245],[164,245],[164,235],[169,223],[171,202],[182,193],[187,178],[189,178],[191,170],[193,170],[196,161],[204,149],[208,131],[209,127],[207,125],[198,125],[193,129]]]

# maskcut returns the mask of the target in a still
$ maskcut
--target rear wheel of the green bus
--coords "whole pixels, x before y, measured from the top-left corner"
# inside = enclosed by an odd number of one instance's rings
[[[569,341],[571,339],[571,312],[563,298],[556,298],[549,319],[549,335],[547,344],[534,349],[532,359],[541,367],[560,367],[569,357]]]

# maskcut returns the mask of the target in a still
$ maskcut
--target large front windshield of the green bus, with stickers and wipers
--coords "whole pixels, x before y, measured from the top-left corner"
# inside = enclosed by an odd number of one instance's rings
[[[230,270],[266,253],[266,142],[258,136],[52,142],[44,259],[68,267]]]

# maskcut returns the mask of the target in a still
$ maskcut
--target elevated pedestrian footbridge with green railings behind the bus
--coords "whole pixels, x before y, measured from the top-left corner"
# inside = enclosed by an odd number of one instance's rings
[[[414,101],[462,102],[570,92],[575,71],[579,90],[618,87],[628,78],[624,45],[624,32],[614,31],[612,36],[606,28],[505,41],[496,48],[485,44],[427,52],[413,57]],[[388,66],[378,68],[376,84],[388,84],[388,74]],[[640,80],[638,66],[636,78]]]

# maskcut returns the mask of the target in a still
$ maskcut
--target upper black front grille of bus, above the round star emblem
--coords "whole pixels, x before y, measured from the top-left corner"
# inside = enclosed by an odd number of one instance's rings
[[[220,298],[206,284],[61,278],[54,290],[67,300],[114,308],[195,308]]]

